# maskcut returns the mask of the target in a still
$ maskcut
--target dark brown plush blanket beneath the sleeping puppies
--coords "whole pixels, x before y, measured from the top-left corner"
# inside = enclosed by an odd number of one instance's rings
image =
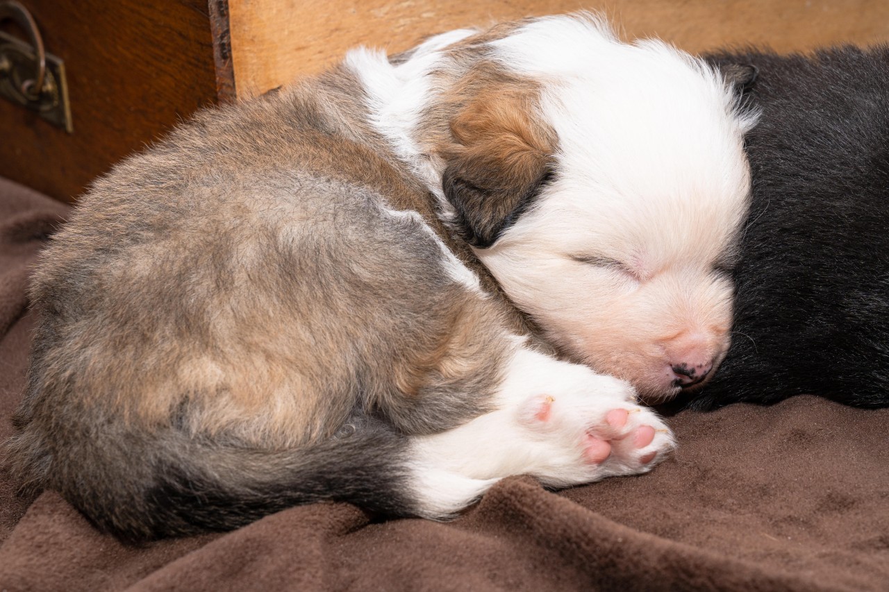
[[[65,206],[0,180],[0,438],[24,381],[25,288]],[[805,352],[799,352],[805,356]],[[547,492],[507,479],[460,519],[291,508],[144,547],[0,473],[0,589],[889,589],[889,410],[808,396],[671,418],[645,476]]]

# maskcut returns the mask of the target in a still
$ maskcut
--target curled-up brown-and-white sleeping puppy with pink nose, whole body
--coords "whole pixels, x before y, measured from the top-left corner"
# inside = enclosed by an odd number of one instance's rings
[[[44,253],[13,470],[129,539],[649,470],[673,439],[637,390],[700,383],[728,343],[737,103],[574,15],[359,49],[196,116]]]

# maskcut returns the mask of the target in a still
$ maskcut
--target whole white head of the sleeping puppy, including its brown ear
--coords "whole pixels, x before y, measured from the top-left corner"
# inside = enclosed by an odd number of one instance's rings
[[[712,375],[755,122],[720,74],[589,15],[348,63],[443,220],[566,356],[649,401]]]

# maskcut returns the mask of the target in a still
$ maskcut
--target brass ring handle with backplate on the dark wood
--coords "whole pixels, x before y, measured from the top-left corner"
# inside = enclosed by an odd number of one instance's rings
[[[65,64],[44,49],[40,30],[17,0],[0,0],[0,21],[13,20],[30,44],[0,32],[0,96],[73,132]]]

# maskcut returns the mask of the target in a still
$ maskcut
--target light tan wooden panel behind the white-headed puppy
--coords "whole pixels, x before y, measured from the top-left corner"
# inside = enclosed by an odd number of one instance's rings
[[[628,38],[661,36],[691,52],[889,40],[886,0],[228,0],[238,98],[316,72],[356,44],[396,52],[451,28],[581,8],[610,15]]]

